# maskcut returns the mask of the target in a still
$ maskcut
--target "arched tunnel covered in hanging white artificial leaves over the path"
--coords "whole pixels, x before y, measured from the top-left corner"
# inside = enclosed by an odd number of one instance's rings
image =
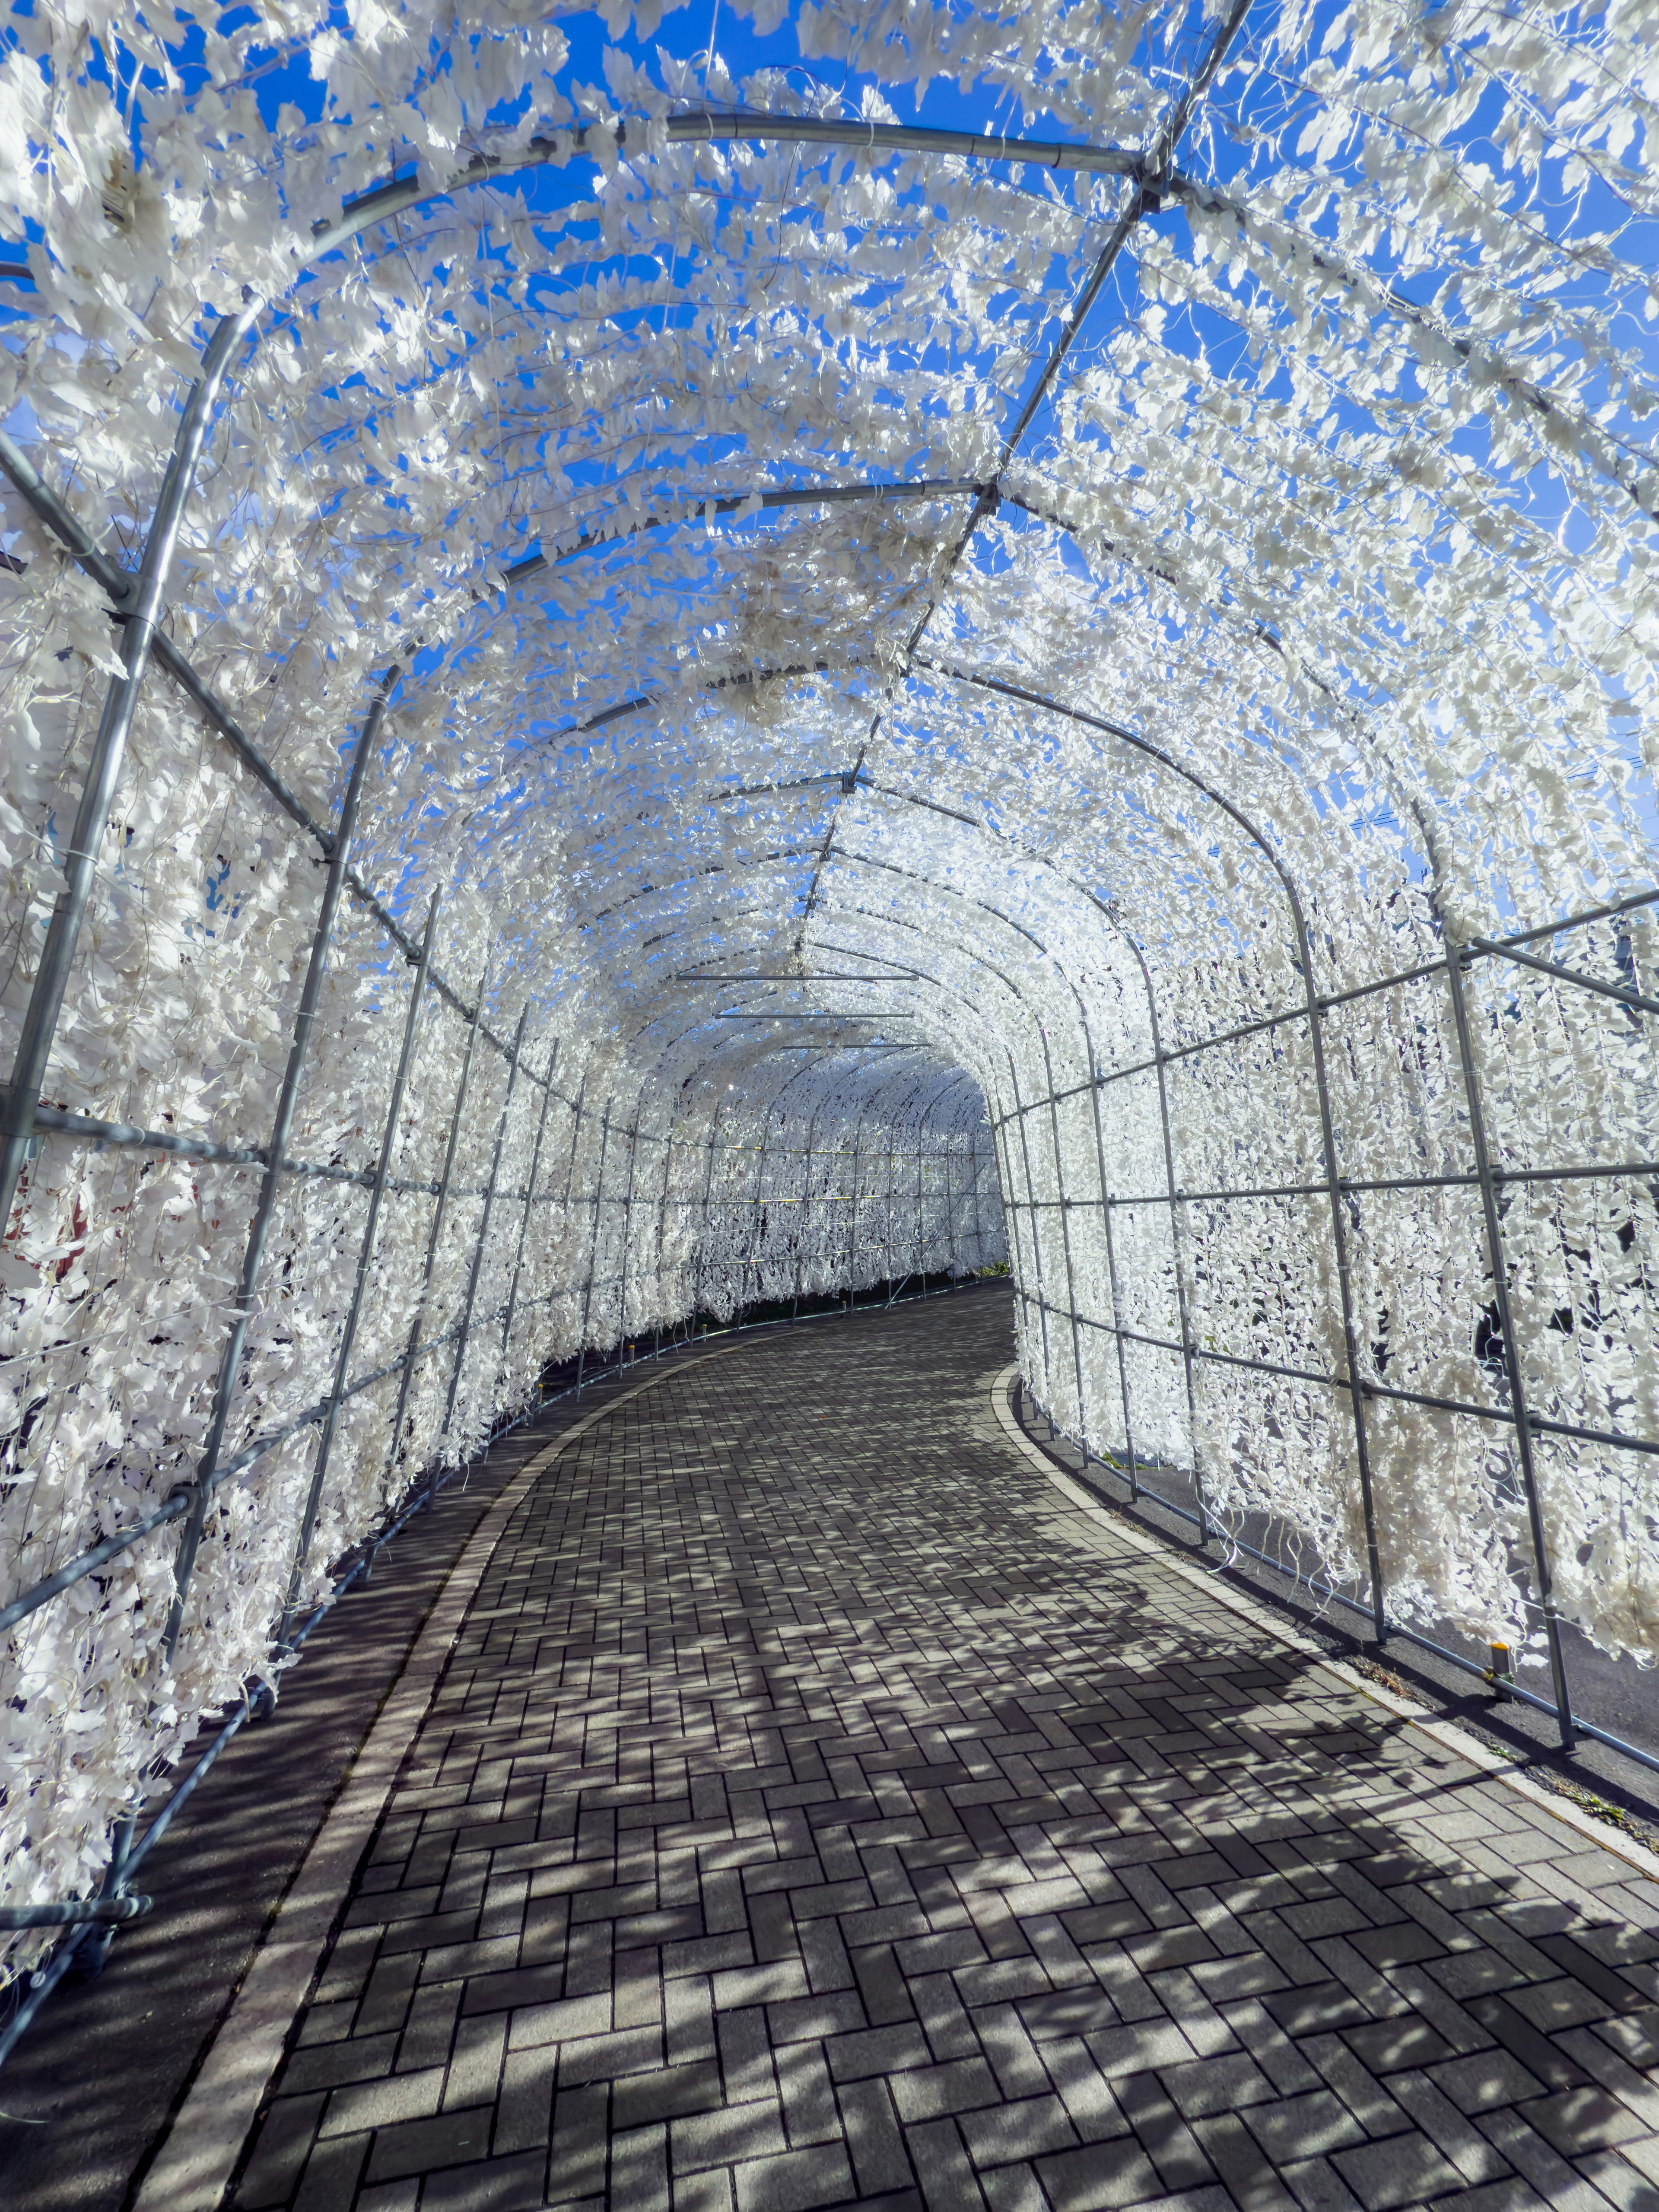
[[[9,1907],[553,1369],[876,1285],[1655,1657],[1637,13],[13,18]]]

